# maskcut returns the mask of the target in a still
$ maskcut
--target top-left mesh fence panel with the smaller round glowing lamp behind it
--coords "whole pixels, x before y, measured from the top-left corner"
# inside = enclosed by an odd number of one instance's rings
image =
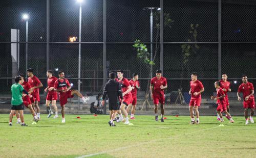
[[[1,1],[0,41],[11,41],[11,29],[19,29],[19,40],[26,41],[26,20],[28,15],[28,41],[46,41],[46,1]]]

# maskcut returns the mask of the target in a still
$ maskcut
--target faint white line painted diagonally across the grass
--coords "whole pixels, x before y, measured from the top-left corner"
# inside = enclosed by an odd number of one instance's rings
[[[202,130],[199,130],[199,131],[204,131],[204,130],[209,130],[209,129],[214,129],[214,128],[218,128],[220,126],[215,126],[215,127],[211,127],[211,128],[206,128],[206,129],[202,129]],[[193,132],[193,133],[198,133],[198,130]],[[193,134],[193,133],[187,133],[187,134],[184,134],[184,135],[190,135],[190,134]],[[176,137],[179,137],[181,135],[178,135]],[[169,137],[167,139],[170,139],[170,138],[174,138],[175,136],[173,137]],[[91,154],[87,154],[87,155],[81,155],[81,156],[78,156],[76,158],[84,158],[84,157],[90,157],[90,156],[94,156],[94,155],[100,155],[100,154],[103,154],[103,153],[108,153],[108,152],[113,152],[113,151],[117,151],[117,150],[121,150],[121,149],[127,149],[127,148],[131,148],[131,147],[136,147],[136,146],[140,146],[140,145],[143,145],[143,144],[148,144],[148,143],[153,143],[153,142],[156,142],[156,141],[160,141],[162,139],[155,139],[155,140],[152,140],[152,141],[149,141],[149,142],[143,142],[143,143],[138,143],[136,145],[129,145],[129,146],[125,146],[125,147],[120,147],[120,148],[116,148],[116,149],[112,149],[112,150],[105,150],[105,151],[101,151],[101,152],[96,152],[96,153],[91,153]]]

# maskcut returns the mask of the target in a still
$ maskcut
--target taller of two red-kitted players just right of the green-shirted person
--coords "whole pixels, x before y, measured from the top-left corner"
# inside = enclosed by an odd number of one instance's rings
[[[40,109],[38,106],[38,102],[40,102],[40,96],[39,96],[39,88],[42,87],[42,83],[40,80],[33,74],[33,69],[29,68],[27,69],[27,75],[28,75],[28,83],[30,84],[33,92],[33,98],[31,98],[31,102],[33,103],[34,108],[36,109],[37,118],[40,119]]]

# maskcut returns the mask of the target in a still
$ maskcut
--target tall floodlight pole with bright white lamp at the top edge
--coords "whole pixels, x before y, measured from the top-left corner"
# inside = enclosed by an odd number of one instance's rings
[[[80,92],[81,89],[81,30],[82,30],[82,1],[83,0],[77,0],[77,2],[80,4],[79,7],[79,55],[78,55],[78,91]],[[80,110],[80,98],[78,97],[78,110]]]

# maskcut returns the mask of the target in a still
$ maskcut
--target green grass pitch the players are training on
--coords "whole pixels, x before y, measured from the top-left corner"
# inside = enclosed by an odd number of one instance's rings
[[[244,117],[233,117],[224,126],[216,117],[201,117],[190,125],[188,116],[136,116],[134,125],[108,124],[109,116],[66,115],[32,123],[8,126],[8,115],[0,115],[0,157],[256,157],[256,124],[245,125]]]

